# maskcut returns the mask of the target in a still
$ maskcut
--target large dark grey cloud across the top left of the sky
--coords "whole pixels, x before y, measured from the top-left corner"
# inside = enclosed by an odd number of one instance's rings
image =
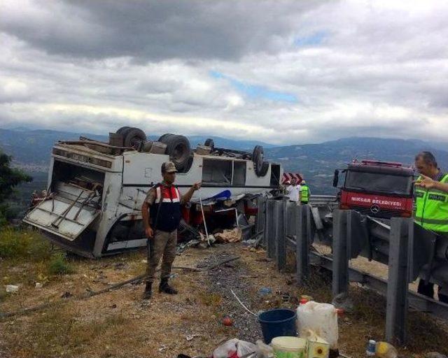
[[[290,14],[314,3],[115,0],[52,1],[43,6],[10,0],[0,24],[7,34],[57,55],[130,56],[136,61],[238,59],[249,52],[278,50],[292,30]]]

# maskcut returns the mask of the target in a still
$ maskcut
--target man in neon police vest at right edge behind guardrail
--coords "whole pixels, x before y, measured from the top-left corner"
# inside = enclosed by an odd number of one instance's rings
[[[414,221],[424,229],[448,237],[448,173],[440,171],[431,152],[416,155],[415,166],[420,176],[415,182]],[[417,292],[432,299],[434,284],[420,279]],[[443,287],[439,287],[438,296],[448,303],[448,292]]]

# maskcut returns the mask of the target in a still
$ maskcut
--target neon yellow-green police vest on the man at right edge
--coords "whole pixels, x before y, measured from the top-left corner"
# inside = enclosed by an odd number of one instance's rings
[[[448,174],[440,182],[448,182]],[[414,221],[428,230],[448,232],[448,193],[419,187],[415,189],[415,194]]]

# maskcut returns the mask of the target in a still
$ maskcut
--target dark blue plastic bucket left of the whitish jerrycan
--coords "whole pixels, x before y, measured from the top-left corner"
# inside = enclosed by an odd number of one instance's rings
[[[266,344],[271,343],[272,338],[283,336],[297,336],[295,321],[297,313],[288,308],[276,308],[267,310],[258,315],[258,321],[261,325],[263,340]]]

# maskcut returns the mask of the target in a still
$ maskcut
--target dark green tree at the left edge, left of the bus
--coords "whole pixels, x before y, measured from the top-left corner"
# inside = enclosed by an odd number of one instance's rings
[[[11,157],[0,151],[0,226],[6,224],[8,217],[8,199],[14,194],[14,188],[22,182],[31,182],[20,169],[10,167]]]

